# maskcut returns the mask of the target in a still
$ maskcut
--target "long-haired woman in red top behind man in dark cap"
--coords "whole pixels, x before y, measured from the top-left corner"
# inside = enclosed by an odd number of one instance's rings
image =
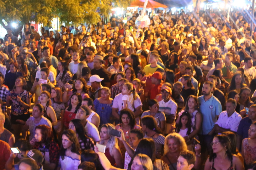
[[[71,95],[69,107],[67,107],[64,112],[62,130],[64,126],[66,129],[68,129],[69,122],[75,119],[76,113],[79,107],[81,106],[81,103],[82,103],[82,96],[79,93],[74,93],[73,95]]]

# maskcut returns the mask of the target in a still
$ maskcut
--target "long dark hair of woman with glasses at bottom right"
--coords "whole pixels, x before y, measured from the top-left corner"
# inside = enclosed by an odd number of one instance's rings
[[[222,145],[223,147],[226,146],[226,155],[228,156],[228,159],[230,161],[232,161],[233,159],[233,154],[232,154],[232,151],[231,151],[231,142],[230,142],[230,139],[228,136],[226,135],[216,135],[214,137],[217,137],[220,144],[219,145]],[[213,149],[211,149],[211,153],[210,153],[210,157],[209,157],[209,160],[212,161],[214,158],[217,157],[216,153],[213,153]]]

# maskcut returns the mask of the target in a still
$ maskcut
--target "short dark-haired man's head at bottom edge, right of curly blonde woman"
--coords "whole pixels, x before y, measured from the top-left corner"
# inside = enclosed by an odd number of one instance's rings
[[[177,170],[191,170],[195,163],[196,156],[192,151],[182,151],[178,157]]]

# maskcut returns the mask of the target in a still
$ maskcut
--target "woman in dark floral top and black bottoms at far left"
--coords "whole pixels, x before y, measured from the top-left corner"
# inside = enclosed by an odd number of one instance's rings
[[[14,89],[6,94],[6,106],[11,106],[11,124],[16,140],[20,138],[21,129],[27,119],[30,118],[28,109],[30,108],[32,95],[25,90],[26,86],[26,80],[23,77],[18,77],[15,81]]]

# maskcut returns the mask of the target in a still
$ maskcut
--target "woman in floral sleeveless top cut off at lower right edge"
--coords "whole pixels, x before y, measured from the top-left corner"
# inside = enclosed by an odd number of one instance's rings
[[[242,141],[242,156],[244,157],[245,168],[247,169],[248,165],[254,163],[256,160],[255,155],[255,139],[256,139],[256,123],[251,124],[250,129],[248,131],[248,138],[244,138]]]

